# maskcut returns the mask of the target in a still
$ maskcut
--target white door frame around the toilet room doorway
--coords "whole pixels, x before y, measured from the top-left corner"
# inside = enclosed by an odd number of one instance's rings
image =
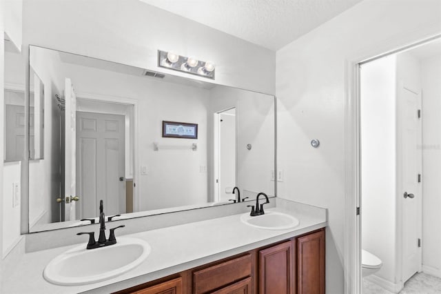
[[[383,40],[376,43],[376,46],[345,59],[345,294],[359,294],[362,291],[361,217],[357,214],[361,205],[360,65],[440,37],[439,30],[435,35],[430,30],[416,30],[407,35]]]

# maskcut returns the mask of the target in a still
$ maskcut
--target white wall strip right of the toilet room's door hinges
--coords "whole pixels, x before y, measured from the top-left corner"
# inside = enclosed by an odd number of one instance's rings
[[[441,54],[421,61],[422,264],[441,277]]]

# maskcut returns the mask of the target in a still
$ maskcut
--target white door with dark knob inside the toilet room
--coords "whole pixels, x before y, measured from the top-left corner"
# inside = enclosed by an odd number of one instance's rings
[[[400,86],[402,139],[402,282],[421,271],[422,137],[420,92]],[[399,202],[400,203],[400,202]]]

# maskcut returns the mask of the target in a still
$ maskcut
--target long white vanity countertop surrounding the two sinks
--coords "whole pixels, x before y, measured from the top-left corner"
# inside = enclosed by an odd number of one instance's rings
[[[326,210],[315,213],[302,209],[269,208],[293,215],[300,225],[287,230],[265,230],[240,222],[240,215],[208,219],[170,226],[143,233],[125,235],[144,239],[152,247],[145,261],[131,271],[110,280],[81,286],[57,286],[46,282],[43,269],[51,259],[77,246],[63,246],[23,254],[16,266],[4,273],[4,293],[110,293],[165,277],[189,268],[236,255],[327,225]],[[116,237],[118,239],[118,237]]]

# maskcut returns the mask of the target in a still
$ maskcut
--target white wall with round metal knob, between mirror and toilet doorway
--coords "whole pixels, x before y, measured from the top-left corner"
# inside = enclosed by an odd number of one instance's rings
[[[440,15],[438,0],[365,0],[276,53],[278,196],[328,208],[327,293],[344,287],[345,61],[439,34]]]

